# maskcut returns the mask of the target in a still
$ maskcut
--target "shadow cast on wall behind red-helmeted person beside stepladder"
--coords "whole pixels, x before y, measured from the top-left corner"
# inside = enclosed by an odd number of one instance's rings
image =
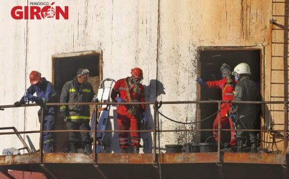
[[[156,91],[157,87],[157,91]],[[157,97],[161,94],[165,94],[164,87],[161,82],[157,80],[150,80],[149,85],[144,85],[145,91],[145,101],[154,102]],[[146,126],[141,126],[140,130],[152,130],[153,129],[153,110],[151,110],[152,105],[146,105],[145,113],[146,113]],[[113,111],[113,120],[114,120],[114,129],[117,130],[117,111]],[[112,126],[107,126],[108,128],[112,128]],[[110,129],[107,129],[110,130]],[[152,153],[152,136],[151,132],[141,132],[141,138],[143,140],[143,151],[144,153]],[[130,140],[129,140],[130,141]],[[113,151],[115,153],[121,153],[120,143],[119,143],[119,134],[114,133],[113,139],[109,140],[108,143],[112,146]]]

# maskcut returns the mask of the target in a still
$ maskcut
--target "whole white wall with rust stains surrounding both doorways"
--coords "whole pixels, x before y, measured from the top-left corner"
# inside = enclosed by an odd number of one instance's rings
[[[0,82],[7,85],[0,87],[1,104],[19,100],[29,86],[27,74],[31,70],[51,80],[53,54],[102,50],[103,79],[125,78],[131,68],[139,66],[144,70],[147,100],[154,101],[158,96],[167,101],[196,99],[197,47],[264,46],[265,52],[270,52],[271,0],[62,0],[55,5],[69,6],[69,20],[28,21],[9,16],[13,6],[25,5],[26,1],[3,3],[6,6],[0,8],[5,15],[0,20],[7,28],[0,34],[1,41],[6,42],[0,48]],[[268,56],[264,58],[269,62]],[[13,80],[5,80],[6,76]],[[193,104],[163,105],[160,111],[173,119],[192,122],[195,109]],[[19,131],[39,129],[36,110],[7,109],[0,113],[6,119],[1,125],[15,126]],[[151,128],[152,107],[147,107],[146,113]],[[115,117],[111,125],[116,129],[114,121]],[[160,117],[160,127],[192,129],[195,125],[179,125]],[[143,137],[150,151],[150,136]],[[32,138],[37,148],[38,136]],[[161,133],[161,146],[193,138],[191,133]],[[3,141],[13,145],[14,140]],[[110,143],[118,152],[116,134]],[[4,147],[0,145],[0,150]]]

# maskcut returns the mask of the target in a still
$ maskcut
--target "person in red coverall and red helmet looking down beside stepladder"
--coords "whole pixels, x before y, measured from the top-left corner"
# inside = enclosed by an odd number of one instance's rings
[[[118,80],[111,92],[111,98],[116,102],[144,102],[144,86],[141,81],[144,79],[143,71],[134,68],[131,77]],[[117,107],[118,129],[119,130],[139,130],[139,122],[146,124],[145,105],[124,105]],[[141,137],[139,132],[130,132],[132,138],[133,153],[140,152]],[[128,132],[120,132],[120,148],[123,153],[128,153],[130,147],[128,142]]]

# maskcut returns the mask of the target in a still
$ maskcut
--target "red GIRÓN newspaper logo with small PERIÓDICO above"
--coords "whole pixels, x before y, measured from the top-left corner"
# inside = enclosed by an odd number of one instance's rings
[[[14,6],[11,9],[11,16],[14,19],[45,19],[45,18],[55,18],[60,19],[60,15],[63,19],[68,19],[68,6],[64,6],[64,10],[60,6],[52,6],[55,2],[48,5],[48,2],[41,2],[45,4],[44,7],[40,6]],[[37,4],[35,2],[30,2],[30,4]],[[46,5],[47,4],[47,5]],[[24,8],[23,8],[24,7]]]

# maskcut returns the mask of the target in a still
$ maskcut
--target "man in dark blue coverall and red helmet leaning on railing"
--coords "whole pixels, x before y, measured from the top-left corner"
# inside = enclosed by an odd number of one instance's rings
[[[43,118],[43,130],[49,131],[53,129],[56,106],[43,105],[47,102],[58,102],[56,92],[52,83],[48,82],[45,78],[41,78],[41,74],[37,71],[32,71],[29,75],[31,86],[26,90],[25,95],[14,103],[14,106],[18,107],[28,101],[35,102],[41,105],[38,110],[38,117],[40,122],[42,107],[44,108]],[[36,96],[33,94],[36,92]],[[52,152],[53,147],[53,133],[44,132],[43,137],[43,149],[45,153]]]

